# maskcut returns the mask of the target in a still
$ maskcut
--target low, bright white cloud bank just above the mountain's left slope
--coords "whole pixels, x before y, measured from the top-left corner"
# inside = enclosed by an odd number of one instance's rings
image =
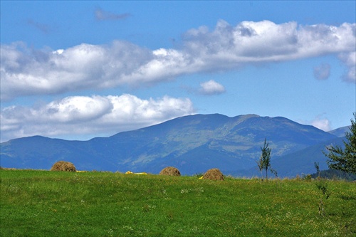
[[[72,96],[33,107],[5,107],[0,115],[1,142],[32,135],[112,135],[193,113],[193,104],[187,98]]]

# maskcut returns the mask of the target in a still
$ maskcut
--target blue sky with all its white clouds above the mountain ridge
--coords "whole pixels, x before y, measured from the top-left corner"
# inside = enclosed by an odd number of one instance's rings
[[[355,1],[0,1],[1,142],[356,111]]]

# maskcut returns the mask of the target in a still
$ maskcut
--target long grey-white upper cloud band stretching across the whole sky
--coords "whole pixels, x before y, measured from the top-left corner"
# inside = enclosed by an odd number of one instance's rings
[[[124,41],[109,45],[33,50],[17,42],[1,45],[1,100],[24,95],[112,88],[172,80],[179,75],[232,70],[337,55],[355,81],[356,23],[298,26],[295,22],[218,21],[213,31],[201,26],[184,33],[182,48],[150,50]],[[353,58],[352,58],[353,57]]]

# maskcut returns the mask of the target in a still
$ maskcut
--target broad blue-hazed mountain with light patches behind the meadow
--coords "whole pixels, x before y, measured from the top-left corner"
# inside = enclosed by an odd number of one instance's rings
[[[174,166],[182,174],[196,174],[216,167],[242,170],[248,176],[256,169],[265,138],[281,174],[303,172],[308,164],[305,159],[314,162],[315,158],[310,156],[315,157],[320,151],[310,148],[308,155],[304,149],[337,139],[328,132],[285,117],[189,115],[89,141],[40,136],[13,139],[1,143],[0,165],[51,169],[54,162],[66,160],[79,170],[157,174],[164,167]],[[302,152],[303,156],[295,152]]]

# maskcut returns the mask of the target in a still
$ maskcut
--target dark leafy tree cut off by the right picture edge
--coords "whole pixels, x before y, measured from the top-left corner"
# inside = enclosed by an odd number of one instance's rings
[[[330,169],[356,174],[356,112],[353,115],[354,120],[351,120],[350,132],[346,132],[348,142],[342,141],[345,150],[340,146],[330,145],[326,147],[329,153],[323,153],[329,158],[327,163]]]

